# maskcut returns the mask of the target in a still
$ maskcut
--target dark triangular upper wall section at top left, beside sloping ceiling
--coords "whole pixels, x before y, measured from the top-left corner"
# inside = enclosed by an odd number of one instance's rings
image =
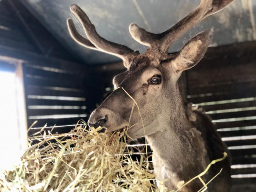
[[[19,0],[0,1],[0,48],[75,60]]]

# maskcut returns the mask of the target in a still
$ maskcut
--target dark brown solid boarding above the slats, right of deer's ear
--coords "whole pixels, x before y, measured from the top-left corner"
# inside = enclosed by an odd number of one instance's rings
[[[208,48],[202,61],[187,71],[189,95],[235,91],[236,84],[255,85],[255,61],[255,41]]]

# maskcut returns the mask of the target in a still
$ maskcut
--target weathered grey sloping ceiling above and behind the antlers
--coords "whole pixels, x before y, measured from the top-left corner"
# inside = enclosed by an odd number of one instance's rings
[[[107,40],[143,52],[146,48],[130,36],[128,26],[136,23],[150,32],[163,32],[200,3],[200,0],[23,0],[24,5],[70,52],[86,64],[117,61],[118,58],[75,43],[66,20],[73,17],[69,6],[78,4]],[[205,29],[214,29],[213,46],[256,40],[256,0],[234,0],[224,10],[192,28],[174,43],[170,52],[179,50],[187,40]],[[82,27],[76,22],[81,34]]]

